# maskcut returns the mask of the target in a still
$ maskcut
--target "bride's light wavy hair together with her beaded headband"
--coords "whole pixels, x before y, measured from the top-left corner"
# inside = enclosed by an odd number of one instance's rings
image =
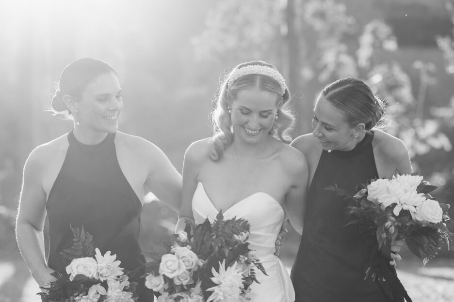
[[[263,68],[263,66],[265,68]],[[242,69],[243,67],[247,67]],[[254,72],[263,74],[254,74]],[[290,91],[285,80],[275,66],[264,61],[249,61],[233,68],[222,80],[219,90],[213,100],[214,110],[211,112],[213,127],[214,148],[211,160],[218,161],[222,158],[224,150],[232,144],[233,132],[228,106],[243,90],[257,87],[261,91],[276,93],[277,119],[269,134],[283,142],[290,143],[292,138],[288,132],[292,130],[295,117],[289,106]]]

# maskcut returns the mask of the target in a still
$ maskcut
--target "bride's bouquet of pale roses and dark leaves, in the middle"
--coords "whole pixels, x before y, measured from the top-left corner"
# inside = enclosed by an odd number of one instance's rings
[[[211,224],[187,220],[184,231],[170,241],[153,244],[145,264],[145,286],[158,302],[244,301],[250,285],[259,283],[255,268],[263,265],[248,248],[249,223],[222,212]]]

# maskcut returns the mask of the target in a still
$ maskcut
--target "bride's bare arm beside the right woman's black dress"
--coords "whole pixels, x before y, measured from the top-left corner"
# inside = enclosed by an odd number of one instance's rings
[[[293,183],[285,195],[284,206],[292,227],[301,235],[303,233],[303,217],[308,189],[308,163],[302,153],[298,155],[292,162],[294,169]]]

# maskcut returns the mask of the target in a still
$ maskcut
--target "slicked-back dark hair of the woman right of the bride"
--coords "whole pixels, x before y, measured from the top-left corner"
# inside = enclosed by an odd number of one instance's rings
[[[345,118],[351,126],[359,123],[371,130],[384,119],[385,105],[373,94],[371,88],[356,78],[341,78],[324,88],[323,96],[336,108],[345,113]]]

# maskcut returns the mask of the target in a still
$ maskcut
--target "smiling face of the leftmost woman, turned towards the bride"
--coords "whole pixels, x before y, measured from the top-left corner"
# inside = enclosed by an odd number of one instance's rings
[[[98,76],[88,84],[77,102],[76,127],[96,133],[114,133],[118,130],[118,116],[123,107],[121,87],[114,73]]]

